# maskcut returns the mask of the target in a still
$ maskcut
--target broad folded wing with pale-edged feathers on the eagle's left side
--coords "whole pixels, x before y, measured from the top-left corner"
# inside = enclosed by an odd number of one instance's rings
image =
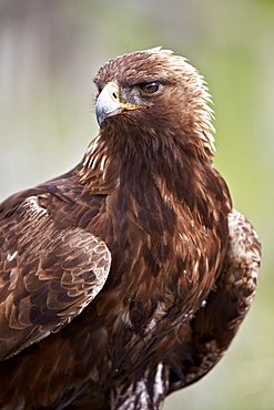
[[[102,289],[111,265],[104,242],[77,226],[58,227],[38,196],[7,205],[0,209],[0,360],[69,324]]]

